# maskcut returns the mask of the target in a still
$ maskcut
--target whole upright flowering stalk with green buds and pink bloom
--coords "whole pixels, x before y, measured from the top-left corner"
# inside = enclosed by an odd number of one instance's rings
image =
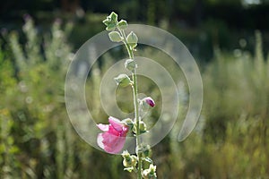
[[[132,72],[132,76],[127,74],[119,74],[115,81],[120,87],[131,86],[134,98],[134,119],[124,119],[122,121],[115,117],[109,116],[109,124],[98,124],[102,133],[98,135],[97,142],[101,149],[108,153],[117,154],[125,144],[126,135],[128,132],[135,136],[136,147],[135,155],[131,155],[127,150],[122,152],[124,170],[135,172],[138,179],[142,178],[157,178],[156,166],[153,165],[151,158],[152,150],[149,145],[142,143],[141,134],[147,132],[146,124],[143,123],[140,112],[149,110],[155,106],[154,100],[151,97],[143,99],[138,98],[137,91],[137,64],[134,60],[134,51],[137,46],[138,38],[133,31],[127,36],[125,30],[127,22],[125,20],[117,21],[117,13],[110,13],[103,23],[109,31],[108,37],[113,42],[123,42],[128,52],[129,58],[126,60],[125,68]]]

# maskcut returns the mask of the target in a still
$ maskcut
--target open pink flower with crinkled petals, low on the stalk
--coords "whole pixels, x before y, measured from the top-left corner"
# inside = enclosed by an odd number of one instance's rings
[[[126,142],[126,134],[129,128],[117,118],[109,116],[109,124],[97,124],[102,130],[97,136],[97,143],[101,149],[111,154],[117,154],[123,149]]]

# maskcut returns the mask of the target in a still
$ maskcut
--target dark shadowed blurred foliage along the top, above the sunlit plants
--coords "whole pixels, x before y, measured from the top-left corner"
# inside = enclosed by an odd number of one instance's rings
[[[262,30],[265,49],[269,30],[268,0],[10,0],[0,6],[0,29],[20,30],[22,16],[30,14],[40,31],[61,18],[74,22],[69,36],[74,49],[103,30],[101,20],[111,11],[133,23],[145,23],[169,30],[181,39],[199,61],[213,58],[213,45],[221,50],[238,46],[247,38],[253,51],[253,31]]]

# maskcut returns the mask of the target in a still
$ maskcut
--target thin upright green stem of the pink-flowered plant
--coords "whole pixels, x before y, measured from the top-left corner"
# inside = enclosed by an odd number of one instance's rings
[[[118,29],[119,30],[119,29]],[[126,46],[126,49],[128,51],[128,55],[129,58],[134,59],[134,52],[132,47],[130,47],[126,41],[126,34],[124,30],[119,30],[121,36],[124,38],[123,42]],[[132,89],[133,89],[133,96],[134,96],[134,119],[135,119],[135,123],[136,123],[136,156],[138,159],[138,171],[137,171],[137,179],[142,179],[142,158],[141,158],[141,154],[139,151],[139,146],[140,146],[140,128],[139,128],[139,104],[138,104],[138,90],[137,90],[137,75],[136,75],[136,69],[134,68],[134,72],[132,72],[132,78],[133,78],[133,85],[132,85]]]

